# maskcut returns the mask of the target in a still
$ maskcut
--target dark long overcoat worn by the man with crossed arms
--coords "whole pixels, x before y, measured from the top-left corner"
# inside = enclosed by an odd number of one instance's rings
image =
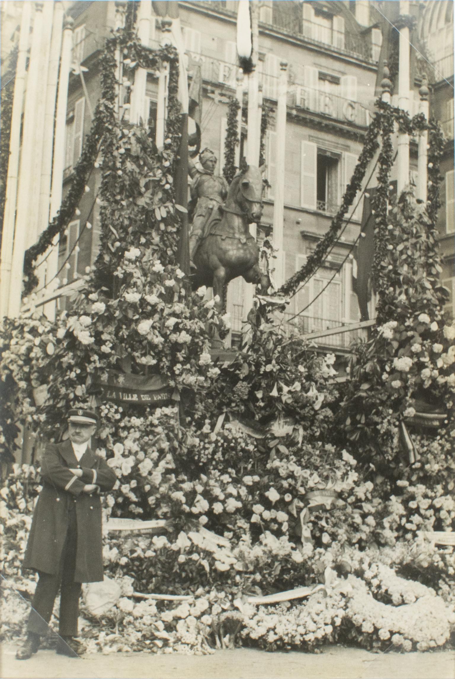
[[[70,468],[81,469],[83,475],[75,477]],[[33,513],[22,568],[52,575],[58,573],[73,505],[77,519],[74,581],[93,583],[103,580],[101,500],[99,494],[88,495],[82,489],[86,484],[96,483],[101,491],[111,490],[117,480],[115,473],[90,448],[78,462],[68,440],[46,446],[41,477],[43,489]]]

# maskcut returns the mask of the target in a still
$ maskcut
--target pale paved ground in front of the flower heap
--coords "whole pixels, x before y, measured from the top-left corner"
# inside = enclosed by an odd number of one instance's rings
[[[455,679],[455,653],[368,653],[329,646],[321,655],[250,648],[202,657],[118,653],[70,659],[40,650],[18,661],[5,644],[2,679]]]

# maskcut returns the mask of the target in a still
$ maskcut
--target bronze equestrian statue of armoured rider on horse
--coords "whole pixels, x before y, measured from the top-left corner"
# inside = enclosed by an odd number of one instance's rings
[[[270,278],[259,268],[259,248],[249,225],[262,216],[263,171],[243,159],[230,186],[213,174],[217,159],[210,149],[200,153],[203,170],[194,164],[192,201],[194,219],[189,238],[192,287],[213,287],[219,296],[219,309],[225,309],[227,284],[243,276],[248,283],[261,285],[265,293]]]

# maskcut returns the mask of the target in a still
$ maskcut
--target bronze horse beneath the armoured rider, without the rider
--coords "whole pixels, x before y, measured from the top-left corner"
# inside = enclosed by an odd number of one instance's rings
[[[260,284],[264,293],[270,285],[259,268],[259,248],[249,232],[249,225],[261,219],[262,193],[262,171],[243,160],[225,203],[214,208],[194,254],[192,287],[213,287],[219,309],[225,309],[227,284],[233,278],[243,276],[247,283]]]

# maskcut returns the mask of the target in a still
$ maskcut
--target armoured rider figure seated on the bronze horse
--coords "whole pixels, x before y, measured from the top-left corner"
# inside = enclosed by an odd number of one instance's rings
[[[193,227],[189,236],[189,259],[193,260],[194,254],[202,236],[204,227],[211,216],[215,206],[222,205],[227,197],[229,184],[224,177],[214,175],[217,157],[211,149],[204,149],[199,154],[202,170],[198,169],[194,163],[189,164],[189,175],[193,179],[191,185],[190,210],[194,209]],[[191,261],[194,267],[193,261]]]

